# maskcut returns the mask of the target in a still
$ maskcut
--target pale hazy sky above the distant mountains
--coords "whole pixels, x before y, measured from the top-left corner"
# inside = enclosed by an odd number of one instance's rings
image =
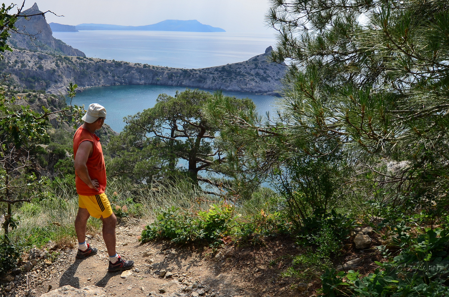
[[[34,2],[26,0],[25,8]],[[56,17],[48,13],[48,23],[141,26],[166,19],[196,19],[228,32],[273,33],[264,22],[269,0],[39,0],[36,3],[41,11],[64,15]]]

